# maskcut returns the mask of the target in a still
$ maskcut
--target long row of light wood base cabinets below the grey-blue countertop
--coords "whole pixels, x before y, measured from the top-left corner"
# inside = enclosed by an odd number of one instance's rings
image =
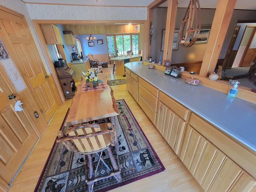
[[[150,120],[155,118],[156,128],[206,192],[256,192],[256,154],[163,92],[154,96],[155,87],[140,80],[136,81],[138,104]],[[132,94],[131,81],[134,78],[126,69],[127,90]]]

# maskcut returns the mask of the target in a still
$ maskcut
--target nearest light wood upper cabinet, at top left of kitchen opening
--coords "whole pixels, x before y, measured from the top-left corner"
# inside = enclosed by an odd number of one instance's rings
[[[63,44],[60,29],[56,25],[41,24],[46,44]]]

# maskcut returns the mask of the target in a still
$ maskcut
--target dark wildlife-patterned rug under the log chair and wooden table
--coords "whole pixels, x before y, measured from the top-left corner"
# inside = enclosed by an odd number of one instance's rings
[[[117,100],[117,104],[119,115],[116,116],[116,128],[122,182],[117,183],[115,178],[95,182],[95,192],[108,191],[165,170],[126,102]],[[62,124],[61,129],[64,128],[67,126]],[[85,192],[84,168],[84,155],[74,154],[61,142],[55,142],[35,192]],[[99,172],[104,174],[104,169],[104,166],[100,167]]]

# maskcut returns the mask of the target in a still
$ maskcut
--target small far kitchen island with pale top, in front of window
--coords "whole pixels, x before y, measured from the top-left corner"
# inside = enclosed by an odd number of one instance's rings
[[[124,64],[128,62],[140,61],[141,57],[142,55],[133,55],[131,57],[114,57],[110,60],[113,60],[115,62],[116,75],[125,76]]]

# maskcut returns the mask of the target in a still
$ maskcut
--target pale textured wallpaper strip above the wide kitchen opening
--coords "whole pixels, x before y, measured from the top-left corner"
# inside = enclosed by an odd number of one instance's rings
[[[26,4],[32,20],[147,20],[146,7]]]

